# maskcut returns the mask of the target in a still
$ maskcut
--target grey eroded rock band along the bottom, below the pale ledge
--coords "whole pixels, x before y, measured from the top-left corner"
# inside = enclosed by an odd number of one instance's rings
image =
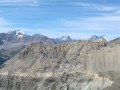
[[[40,76],[4,72],[0,75],[0,90],[101,90],[112,83],[87,72],[50,72]]]

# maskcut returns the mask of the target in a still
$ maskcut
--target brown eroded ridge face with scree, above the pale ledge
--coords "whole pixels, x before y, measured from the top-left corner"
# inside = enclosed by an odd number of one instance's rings
[[[120,71],[120,44],[75,41],[53,46],[32,44],[6,62],[1,70],[20,72],[61,72],[87,70]]]

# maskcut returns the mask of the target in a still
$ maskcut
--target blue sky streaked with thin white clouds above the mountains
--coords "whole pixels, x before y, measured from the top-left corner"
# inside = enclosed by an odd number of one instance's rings
[[[0,33],[120,37],[120,0],[0,0]]]

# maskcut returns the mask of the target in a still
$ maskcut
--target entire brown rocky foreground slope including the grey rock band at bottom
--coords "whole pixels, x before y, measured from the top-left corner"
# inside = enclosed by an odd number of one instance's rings
[[[102,73],[120,72],[119,53],[119,39],[31,44],[0,67],[0,90],[106,89],[115,82]]]

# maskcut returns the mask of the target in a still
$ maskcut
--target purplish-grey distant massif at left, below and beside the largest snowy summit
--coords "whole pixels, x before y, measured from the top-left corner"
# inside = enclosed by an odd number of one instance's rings
[[[0,33],[0,49],[13,48],[19,45],[29,45],[31,43],[42,43],[46,45],[55,44],[55,40],[46,36],[35,34],[26,35],[23,31],[15,30],[8,33]]]

